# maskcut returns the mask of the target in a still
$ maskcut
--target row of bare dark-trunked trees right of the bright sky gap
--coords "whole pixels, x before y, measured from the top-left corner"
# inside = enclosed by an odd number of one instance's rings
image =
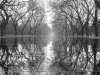
[[[57,0],[51,3],[55,27],[62,35],[99,36],[99,0]]]

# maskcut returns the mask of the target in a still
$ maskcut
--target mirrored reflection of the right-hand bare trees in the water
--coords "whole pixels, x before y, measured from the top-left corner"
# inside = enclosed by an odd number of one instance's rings
[[[100,40],[87,38],[66,38],[66,40],[55,46],[56,57],[52,67],[59,67],[64,75],[90,75],[89,73],[99,75]]]

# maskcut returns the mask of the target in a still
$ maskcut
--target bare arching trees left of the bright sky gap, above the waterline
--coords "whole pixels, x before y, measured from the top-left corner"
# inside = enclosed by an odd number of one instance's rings
[[[24,31],[31,34],[36,27],[43,24],[43,19],[44,10],[37,1],[0,1],[1,36],[9,33],[11,30],[13,30],[13,33],[15,32],[15,35],[17,35],[17,32],[18,34],[23,34]],[[11,29],[9,29],[10,27]],[[21,32],[19,32],[19,30],[21,30]]]

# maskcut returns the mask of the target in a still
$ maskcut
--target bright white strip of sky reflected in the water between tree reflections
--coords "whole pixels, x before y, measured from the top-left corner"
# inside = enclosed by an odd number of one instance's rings
[[[44,54],[45,58],[42,65],[43,71],[40,75],[52,75],[52,72],[50,71],[50,65],[52,64],[54,58],[52,41],[44,47]]]

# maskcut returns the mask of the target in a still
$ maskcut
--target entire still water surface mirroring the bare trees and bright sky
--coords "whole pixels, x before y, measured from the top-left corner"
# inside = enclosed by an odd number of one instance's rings
[[[1,75],[99,75],[99,39],[53,36],[56,40],[47,42],[32,38],[1,38]]]

